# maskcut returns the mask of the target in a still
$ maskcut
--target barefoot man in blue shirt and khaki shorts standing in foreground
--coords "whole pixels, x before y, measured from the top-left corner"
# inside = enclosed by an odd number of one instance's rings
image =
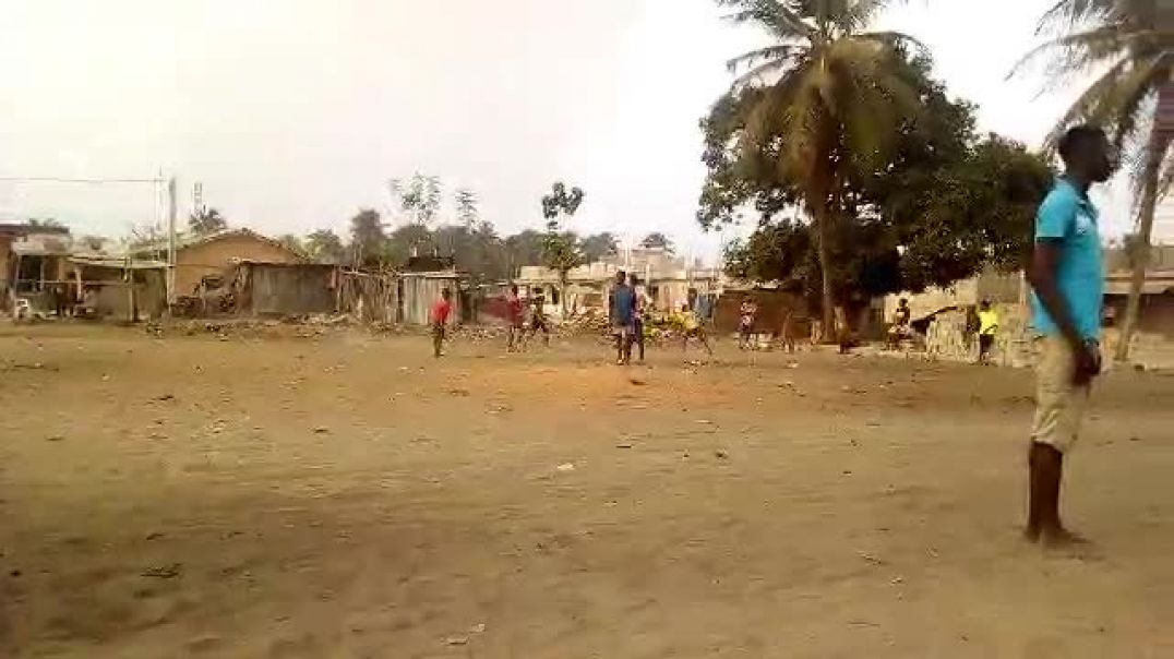
[[[1039,362],[1024,534],[1052,546],[1079,540],[1060,522],[1060,482],[1064,456],[1077,441],[1092,381],[1101,368],[1105,275],[1088,187],[1107,181],[1115,167],[1100,128],[1071,128],[1060,139],[1059,152],[1065,173],[1035,215],[1035,247],[1027,273]]]

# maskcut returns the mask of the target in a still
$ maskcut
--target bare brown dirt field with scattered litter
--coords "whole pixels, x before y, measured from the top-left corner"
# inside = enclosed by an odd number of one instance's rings
[[[0,329],[0,654],[1172,657],[1174,377]],[[1165,408],[1163,408],[1165,406]]]

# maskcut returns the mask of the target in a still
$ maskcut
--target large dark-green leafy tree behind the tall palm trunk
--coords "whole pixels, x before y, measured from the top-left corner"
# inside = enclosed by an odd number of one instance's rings
[[[821,265],[819,236],[798,213],[801,182],[775,164],[785,134],[747,140],[747,89],[718,102],[702,122],[709,175],[697,217],[703,227],[758,215],[758,228],[727,248],[735,277],[777,280],[821,304],[824,280],[845,305],[899,290],[949,285],[987,263],[1016,268],[1030,248],[1034,208],[1051,184],[1040,156],[997,135],[974,135],[974,108],[951,100],[930,78],[925,54],[904,58],[892,75],[911,88],[918,121],[893,130],[878,161],[853,160],[839,190],[841,221]],[[749,97],[747,97],[749,96]],[[848,309],[849,317],[855,316]]]

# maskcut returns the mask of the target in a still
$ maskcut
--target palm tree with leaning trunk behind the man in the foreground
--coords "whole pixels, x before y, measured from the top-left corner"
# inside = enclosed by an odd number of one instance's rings
[[[1133,167],[1136,194],[1136,246],[1129,300],[1116,359],[1129,356],[1138,323],[1141,284],[1149,261],[1154,208],[1174,179],[1170,130],[1159,114],[1159,96],[1174,93],[1174,32],[1160,22],[1161,0],[1059,0],[1039,22],[1039,32],[1060,34],[1027,53],[1012,72],[1038,59],[1050,60],[1050,78],[1099,75],[1060,117],[1045,141],[1051,152],[1075,122],[1104,127]]]

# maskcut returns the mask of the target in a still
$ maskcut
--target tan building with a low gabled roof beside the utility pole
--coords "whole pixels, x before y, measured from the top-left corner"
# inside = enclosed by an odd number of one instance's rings
[[[136,258],[167,261],[167,242],[133,246]],[[284,244],[249,229],[209,235],[185,235],[175,249],[175,295],[197,295],[208,276],[224,276],[237,263],[304,263],[305,257]]]

